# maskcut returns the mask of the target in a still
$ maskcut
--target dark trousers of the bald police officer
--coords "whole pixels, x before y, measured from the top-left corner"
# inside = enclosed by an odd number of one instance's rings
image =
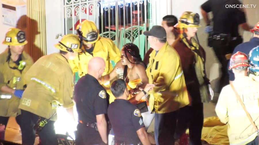
[[[75,143],[80,145],[105,145],[102,138],[94,128],[78,123]]]

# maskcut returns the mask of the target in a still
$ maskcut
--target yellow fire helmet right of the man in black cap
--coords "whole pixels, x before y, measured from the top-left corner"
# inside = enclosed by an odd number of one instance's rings
[[[201,27],[200,16],[198,13],[193,13],[191,11],[186,11],[182,13],[176,28],[189,28],[189,27]]]

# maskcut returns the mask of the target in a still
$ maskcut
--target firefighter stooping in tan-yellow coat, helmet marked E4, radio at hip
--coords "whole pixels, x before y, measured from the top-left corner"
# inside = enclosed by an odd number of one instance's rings
[[[74,105],[73,72],[68,60],[81,52],[80,39],[75,34],[68,34],[55,47],[60,49],[60,53],[39,58],[25,75],[27,88],[19,105],[22,144],[33,145],[36,130],[42,144],[57,145],[54,130],[56,109],[61,105],[64,108]]]

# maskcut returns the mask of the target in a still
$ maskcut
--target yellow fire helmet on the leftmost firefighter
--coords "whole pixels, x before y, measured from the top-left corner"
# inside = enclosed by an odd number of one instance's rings
[[[10,28],[5,34],[5,40],[2,44],[9,46],[21,46],[27,44],[28,41],[25,39],[25,33],[17,28]]]

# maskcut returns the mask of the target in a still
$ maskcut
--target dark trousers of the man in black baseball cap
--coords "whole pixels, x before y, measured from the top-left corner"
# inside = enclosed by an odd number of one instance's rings
[[[155,113],[156,145],[174,145],[177,111],[169,113]]]

